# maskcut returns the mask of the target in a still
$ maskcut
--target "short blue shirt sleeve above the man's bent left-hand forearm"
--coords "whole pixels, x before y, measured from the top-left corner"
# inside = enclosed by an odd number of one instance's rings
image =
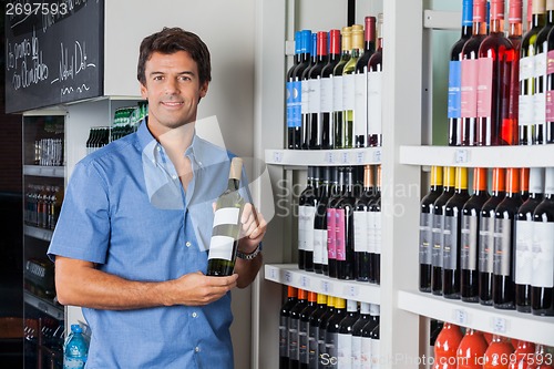
[[[94,162],[75,165],[48,256],[104,264],[110,238],[107,183]]]

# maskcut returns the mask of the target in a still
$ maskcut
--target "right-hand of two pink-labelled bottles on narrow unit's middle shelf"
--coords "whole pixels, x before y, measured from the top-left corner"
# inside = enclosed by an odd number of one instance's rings
[[[355,224],[353,212],[356,197],[353,195],[352,167],[345,168],[346,185],[343,195],[337,203],[335,216],[337,225],[337,277],[339,279],[355,279]],[[330,262],[329,262],[330,263]],[[329,266],[330,269],[330,266]]]

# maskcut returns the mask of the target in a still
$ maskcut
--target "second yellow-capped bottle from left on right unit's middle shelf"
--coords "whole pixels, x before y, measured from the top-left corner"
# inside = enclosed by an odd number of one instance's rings
[[[442,295],[442,250],[444,247],[444,206],[454,195],[454,167],[443,168],[442,194],[433,203],[433,249],[431,252],[431,291]]]

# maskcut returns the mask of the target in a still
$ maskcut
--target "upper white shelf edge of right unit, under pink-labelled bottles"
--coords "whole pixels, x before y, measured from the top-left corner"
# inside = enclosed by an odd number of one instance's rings
[[[554,166],[554,145],[400,146],[400,163],[468,167]]]

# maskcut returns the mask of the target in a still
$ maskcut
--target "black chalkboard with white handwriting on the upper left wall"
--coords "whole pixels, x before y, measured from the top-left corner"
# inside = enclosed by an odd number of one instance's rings
[[[104,0],[6,3],[6,112],[103,94]]]

